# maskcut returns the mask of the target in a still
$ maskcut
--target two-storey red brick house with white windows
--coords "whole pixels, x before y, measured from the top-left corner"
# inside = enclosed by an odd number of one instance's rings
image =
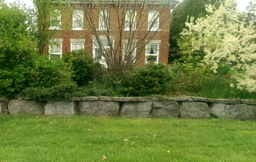
[[[49,45],[50,56],[61,57],[84,48],[93,57],[102,58],[105,65],[112,57],[139,65],[149,60],[168,64],[170,13],[177,1],[128,0],[128,5],[121,2],[76,0],[70,3],[72,14],[70,9],[57,11],[57,16],[51,16],[54,21],[49,28],[58,30],[52,39],[54,43]],[[106,56],[107,51],[113,54],[111,58]]]

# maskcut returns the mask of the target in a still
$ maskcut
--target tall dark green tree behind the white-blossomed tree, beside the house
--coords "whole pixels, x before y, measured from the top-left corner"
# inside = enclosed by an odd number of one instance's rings
[[[212,4],[218,8],[220,2],[221,0],[183,0],[175,7],[171,15],[170,24],[169,62],[179,58],[177,56],[177,51],[179,50],[177,40],[180,38],[183,28],[186,27],[187,17],[192,16],[194,20],[199,17],[205,17],[208,14],[205,5]]]

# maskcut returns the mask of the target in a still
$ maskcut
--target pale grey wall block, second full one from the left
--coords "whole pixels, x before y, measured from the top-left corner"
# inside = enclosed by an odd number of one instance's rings
[[[48,101],[44,108],[44,115],[68,116],[77,113],[75,101]]]

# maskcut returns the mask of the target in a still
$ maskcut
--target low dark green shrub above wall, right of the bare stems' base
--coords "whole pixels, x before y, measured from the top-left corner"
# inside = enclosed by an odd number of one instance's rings
[[[137,67],[122,81],[125,96],[148,96],[152,94],[165,95],[169,91],[171,74],[168,66],[162,63],[149,63]]]

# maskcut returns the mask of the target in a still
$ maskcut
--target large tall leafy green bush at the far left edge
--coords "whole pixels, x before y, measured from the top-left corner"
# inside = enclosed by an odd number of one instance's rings
[[[29,85],[35,57],[29,10],[0,0],[0,96],[10,97]]]

